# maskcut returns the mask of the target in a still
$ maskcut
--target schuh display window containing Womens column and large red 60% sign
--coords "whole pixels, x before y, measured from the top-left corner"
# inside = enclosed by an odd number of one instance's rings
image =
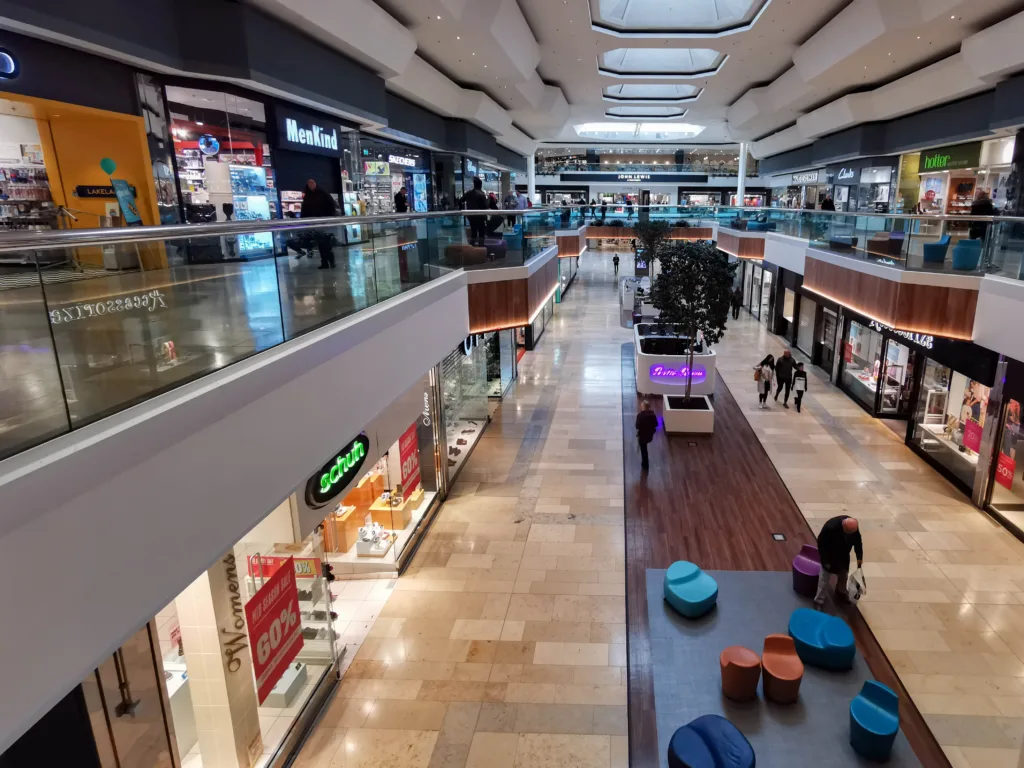
[[[323,537],[295,541],[294,509],[285,500],[155,618],[183,766],[268,765],[336,680],[347,622]]]

